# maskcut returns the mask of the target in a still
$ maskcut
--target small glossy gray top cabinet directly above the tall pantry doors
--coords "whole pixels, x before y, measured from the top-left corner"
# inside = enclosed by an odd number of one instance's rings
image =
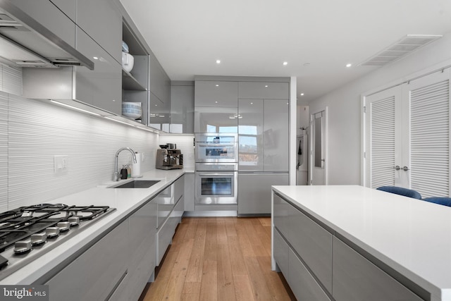
[[[240,82],[238,97],[247,99],[289,99],[288,82]]]

